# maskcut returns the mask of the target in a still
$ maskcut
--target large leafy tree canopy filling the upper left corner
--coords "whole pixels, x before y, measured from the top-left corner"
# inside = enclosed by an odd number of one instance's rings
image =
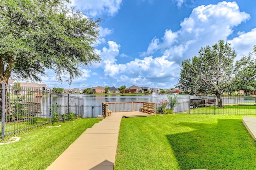
[[[78,77],[79,66],[100,61],[93,45],[99,22],[86,18],[68,0],[0,1],[0,83],[17,78],[40,81],[46,70],[56,79]]]

